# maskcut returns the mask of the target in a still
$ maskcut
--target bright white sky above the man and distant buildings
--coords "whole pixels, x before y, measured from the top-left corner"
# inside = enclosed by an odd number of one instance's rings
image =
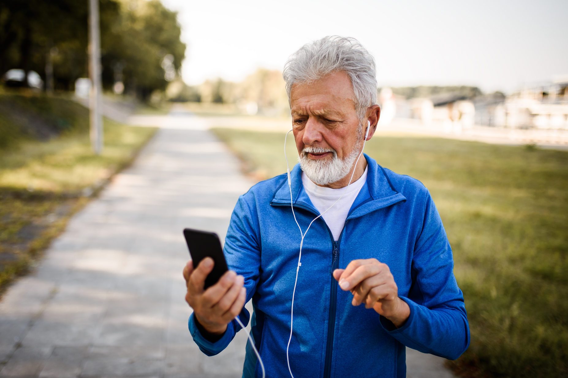
[[[162,0],[179,12],[182,76],[240,81],[282,70],[326,35],[374,56],[379,86],[475,85],[511,92],[568,75],[568,1]]]

